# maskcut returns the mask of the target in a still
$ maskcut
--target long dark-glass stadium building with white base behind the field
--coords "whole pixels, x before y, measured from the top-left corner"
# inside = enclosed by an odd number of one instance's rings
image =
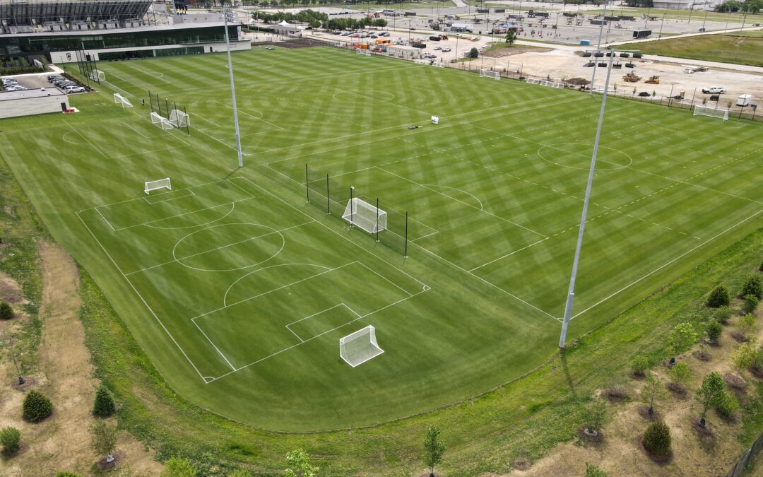
[[[224,24],[221,12],[178,15],[151,0],[0,0],[0,64],[214,53]],[[249,50],[237,15],[227,25],[231,50]]]

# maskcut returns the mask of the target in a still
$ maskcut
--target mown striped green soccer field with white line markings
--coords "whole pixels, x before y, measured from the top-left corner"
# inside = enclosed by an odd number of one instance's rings
[[[337,429],[555,353],[600,98],[255,48],[233,55],[239,169],[226,64],[99,63],[81,112],[0,123],[50,232],[176,392],[256,427]],[[148,90],[186,107],[190,135],[151,123]],[[568,341],[759,227],[761,149],[759,124],[610,100]],[[340,217],[350,186],[388,212],[378,241]],[[352,368],[340,337],[367,325],[384,353]]]

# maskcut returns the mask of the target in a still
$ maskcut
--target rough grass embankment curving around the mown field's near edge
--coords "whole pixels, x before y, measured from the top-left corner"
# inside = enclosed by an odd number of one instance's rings
[[[324,475],[406,475],[420,470],[423,429],[436,424],[448,445],[442,469],[479,475],[506,472],[518,456],[538,459],[556,443],[574,439],[581,403],[596,388],[626,380],[634,355],[654,363],[668,356],[668,331],[680,322],[707,319],[703,295],[718,282],[737,292],[759,264],[761,248],[763,230],[758,230],[583,337],[565,356],[503,388],[422,416],[351,431],[269,433],[188,404],[159,376],[84,270],[82,320],[99,377],[121,402],[121,427],[156,448],[160,458],[182,454],[210,473],[235,466],[275,473],[285,453],[302,446]],[[744,412],[740,452],[760,432],[763,416],[759,405]]]

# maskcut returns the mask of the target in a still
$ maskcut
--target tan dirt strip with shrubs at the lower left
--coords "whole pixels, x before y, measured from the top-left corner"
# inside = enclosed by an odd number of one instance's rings
[[[73,470],[89,475],[98,461],[90,449],[89,427],[94,421],[90,409],[98,380],[94,379],[85,332],[79,321],[79,275],[72,258],[55,244],[42,243],[38,252],[43,268],[43,320],[40,344],[41,375],[30,387],[53,401],[53,415],[31,424],[21,419],[21,401],[26,389],[9,382],[12,364],[0,363],[0,426],[21,430],[21,451],[0,461],[2,475],[53,475]],[[115,422],[115,420],[112,420]],[[133,474],[157,475],[161,469],[143,445],[121,431],[118,453],[124,456],[122,469]]]

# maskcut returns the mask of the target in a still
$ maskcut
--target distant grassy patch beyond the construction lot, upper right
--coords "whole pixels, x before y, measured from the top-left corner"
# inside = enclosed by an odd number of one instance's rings
[[[763,37],[707,35],[648,41],[623,45],[623,48],[638,49],[651,55],[763,66]]]

